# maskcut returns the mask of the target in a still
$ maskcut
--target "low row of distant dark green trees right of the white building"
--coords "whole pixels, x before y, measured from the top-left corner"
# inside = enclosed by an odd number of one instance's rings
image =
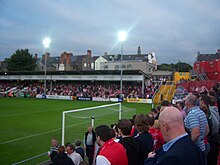
[[[176,64],[161,64],[157,66],[158,70],[166,70],[166,71],[179,71],[179,72],[189,72],[192,70],[192,66],[190,64],[184,62],[178,62]]]

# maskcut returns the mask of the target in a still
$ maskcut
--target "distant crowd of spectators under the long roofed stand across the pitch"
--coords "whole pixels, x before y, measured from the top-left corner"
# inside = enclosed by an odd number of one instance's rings
[[[129,98],[152,98],[159,88],[159,83],[149,82],[142,92],[142,83],[123,82],[123,97]],[[11,90],[12,88],[16,88]],[[31,97],[36,94],[44,94],[44,83],[39,81],[2,81],[0,82],[0,92],[6,96],[15,96],[16,92],[25,89]],[[5,93],[9,91],[8,93]],[[47,95],[78,96],[78,97],[102,97],[118,98],[120,94],[119,82],[92,82],[92,81],[55,81],[47,83]]]

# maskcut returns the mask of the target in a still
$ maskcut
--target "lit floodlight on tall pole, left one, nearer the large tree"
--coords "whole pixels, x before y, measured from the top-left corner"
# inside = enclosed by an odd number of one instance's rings
[[[46,48],[50,47],[50,38],[45,38],[43,40],[43,45],[44,45],[44,53],[45,53],[45,59],[44,59],[44,94],[46,96],[46,89],[47,89],[47,53],[46,53]]]

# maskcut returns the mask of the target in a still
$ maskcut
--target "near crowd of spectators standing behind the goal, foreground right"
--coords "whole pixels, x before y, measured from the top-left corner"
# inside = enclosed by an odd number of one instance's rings
[[[176,105],[164,100],[150,113],[133,119],[88,127],[84,148],[79,152],[79,145],[68,144],[65,153],[65,147],[56,143],[58,153],[52,163],[64,164],[67,160],[61,159],[62,155],[75,165],[219,165],[219,99],[213,87],[189,94]],[[73,153],[78,153],[78,161]]]

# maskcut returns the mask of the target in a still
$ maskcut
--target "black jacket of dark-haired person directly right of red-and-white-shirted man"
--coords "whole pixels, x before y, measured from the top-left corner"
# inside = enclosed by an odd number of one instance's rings
[[[133,137],[124,137],[119,143],[126,149],[129,165],[136,165],[138,162],[138,145]]]

